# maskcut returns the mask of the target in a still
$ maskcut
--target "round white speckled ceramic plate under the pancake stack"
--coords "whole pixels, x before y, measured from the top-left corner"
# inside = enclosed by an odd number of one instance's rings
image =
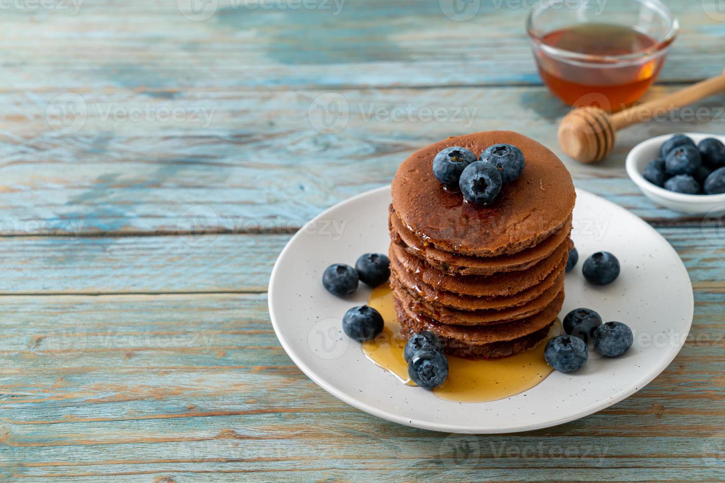
[[[387,253],[390,187],[363,193],[312,219],[289,241],[270,279],[272,324],[299,369],[336,398],[389,421],[444,432],[503,433],[555,426],[623,400],[657,377],[682,347],[692,323],[687,270],[647,223],[598,196],[577,190],[572,238],[579,264],[566,277],[562,316],[589,307],[605,322],[625,322],[634,345],[619,358],[590,356],[573,374],[552,373],[531,390],[489,403],[455,403],[402,385],[363,356],[341,330],[341,316],[367,301],[363,284],[351,298],[326,292],[321,277],[333,263],[355,264],[363,253]],[[581,264],[610,251],[621,274],[605,287],[587,285]],[[625,421],[622,421],[625,424]]]

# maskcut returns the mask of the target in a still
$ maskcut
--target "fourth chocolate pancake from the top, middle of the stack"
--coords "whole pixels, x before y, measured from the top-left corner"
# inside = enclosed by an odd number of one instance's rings
[[[405,287],[405,289],[409,292],[417,294],[418,297],[423,298],[428,302],[439,303],[459,310],[500,310],[502,308],[521,306],[539,297],[539,295],[542,295],[544,290],[547,290],[547,288],[554,285],[560,277],[563,277],[565,266],[566,260],[562,260],[560,265],[537,285],[529,287],[526,290],[521,290],[521,292],[517,292],[512,295],[500,295],[494,297],[460,295],[432,287],[426,282],[423,282],[423,280],[421,280],[417,275],[411,274],[405,269],[402,269],[402,266],[396,259],[394,259],[394,257],[391,259],[390,269],[392,277],[391,280],[395,279],[399,285]]]

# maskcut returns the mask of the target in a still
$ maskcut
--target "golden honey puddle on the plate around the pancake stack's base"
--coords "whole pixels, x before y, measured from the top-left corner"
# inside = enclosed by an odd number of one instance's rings
[[[405,385],[415,386],[407,374],[407,363],[403,358],[405,337],[400,334],[393,306],[392,290],[387,284],[373,290],[368,306],[383,316],[383,332],[373,340],[363,343],[363,353],[373,364],[389,371]],[[552,368],[544,360],[547,340],[561,333],[561,324],[556,322],[546,339],[523,353],[499,359],[473,361],[446,356],[448,379],[441,387],[433,390],[441,399],[463,403],[484,403],[510,398],[536,386],[551,374]]]

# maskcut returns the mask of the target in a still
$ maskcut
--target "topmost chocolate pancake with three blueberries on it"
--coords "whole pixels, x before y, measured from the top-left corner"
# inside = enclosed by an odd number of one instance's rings
[[[526,158],[521,176],[503,185],[489,206],[464,203],[433,175],[443,148],[463,146],[476,156],[497,143],[513,144]],[[571,175],[558,157],[524,135],[485,131],[442,140],[416,151],[398,168],[393,207],[405,227],[443,251],[473,256],[517,253],[561,227],[574,207]]]

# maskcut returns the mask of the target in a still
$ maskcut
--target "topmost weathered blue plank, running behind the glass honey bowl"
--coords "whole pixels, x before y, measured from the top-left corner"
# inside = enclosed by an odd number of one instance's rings
[[[469,2],[467,8],[480,8],[465,22],[443,14],[440,5],[450,2],[428,0],[304,2],[313,8],[294,1],[221,0],[209,2],[208,13],[218,9],[199,22],[180,14],[177,5],[184,2],[163,0],[130,3],[123,12],[112,0],[8,8],[0,20],[8,39],[0,46],[2,85],[130,88],[160,96],[177,96],[180,85],[540,85],[524,32],[536,3]],[[660,80],[718,74],[725,56],[712,41],[724,33],[716,0],[668,3],[682,30]]]

